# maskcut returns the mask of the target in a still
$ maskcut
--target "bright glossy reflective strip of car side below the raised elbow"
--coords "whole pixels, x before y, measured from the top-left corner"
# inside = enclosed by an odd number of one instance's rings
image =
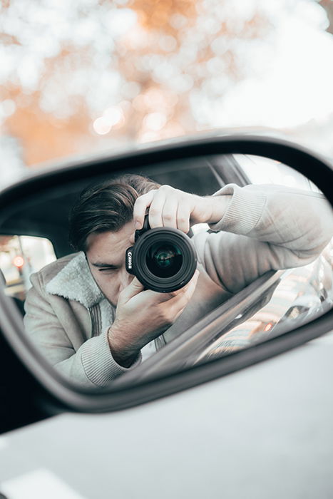
[[[314,263],[284,272],[277,285],[222,329],[195,362],[265,341],[327,312],[333,305],[332,255],[331,242]]]

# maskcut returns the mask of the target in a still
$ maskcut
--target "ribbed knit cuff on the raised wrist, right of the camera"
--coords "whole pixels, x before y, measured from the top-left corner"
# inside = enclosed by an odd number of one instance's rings
[[[260,220],[266,195],[252,185],[239,187],[236,184],[225,185],[214,194],[214,196],[222,195],[232,195],[230,203],[222,219],[210,224],[210,229],[247,235]]]

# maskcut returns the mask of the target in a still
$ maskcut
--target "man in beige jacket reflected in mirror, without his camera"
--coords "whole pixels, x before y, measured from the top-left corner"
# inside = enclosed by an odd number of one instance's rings
[[[143,289],[125,270],[147,210],[152,228],[186,233],[205,222],[216,231],[193,237],[198,268],[183,289]],[[31,276],[26,331],[72,381],[107,386],[141,351],[160,348],[260,275],[312,262],[332,232],[332,209],[315,192],[230,184],[199,197],[124,175],[81,194],[70,219],[78,253]]]

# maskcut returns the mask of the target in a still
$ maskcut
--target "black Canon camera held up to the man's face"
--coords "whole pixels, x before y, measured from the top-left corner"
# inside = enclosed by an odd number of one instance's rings
[[[150,229],[148,215],[135,231],[134,246],[126,249],[125,265],[147,289],[170,293],[188,284],[197,268],[193,241],[173,227]]]

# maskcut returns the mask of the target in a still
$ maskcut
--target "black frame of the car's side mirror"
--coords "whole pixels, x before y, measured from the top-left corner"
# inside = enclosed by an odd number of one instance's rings
[[[259,135],[224,135],[175,140],[173,143],[162,145],[156,143],[148,148],[138,148],[112,157],[94,158],[80,163],[69,163],[61,168],[43,170],[0,192],[0,213],[15,205],[17,199],[29,197],[31,192],[36,193],[48,187],[61,185],[63,182],[73,182],[78,178],[88,179],[115,170],[124,170],[128,168],[129,163],[132,163],[130,168],[140,168],[161,161],[208,154],[251,154],[279,160],[312,180],[333,206],[333,170],[332,165],[324,158],[282,139]],[[177,374],[145,381],[135,386],[122,386],[121,389],[94,393],[87,389],[79,389],[63,379],[37,354],[34,346],[22,334],[21,317],[2,289],[0,307],[3,312],[4,341],[9,349],[14,351],[14,356],[24,365],[27,373],[31,374],[35,381],[34,388],[41,399],[40,406],[43,406],[44,413],[49,416],[62,411],[100,413],[136,406],[269,359],[321,336],[333,326],[332,309],[311,323],[282,336],[221,359],[212,360],[208,364],[193,366]]]

